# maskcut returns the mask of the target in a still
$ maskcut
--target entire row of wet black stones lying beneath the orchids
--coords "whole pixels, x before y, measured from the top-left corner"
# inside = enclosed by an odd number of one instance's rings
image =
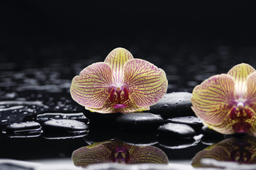
[[[180,145],[195,142],[195,136],[223,137],[203,127],[191,110],[191,93],[166,94],[162,100],[143,113],[44,113],[33,121],[14,123],[4,128],[13,136],[46,138],[86,137],[89,144],[117,139],[132,144]]]

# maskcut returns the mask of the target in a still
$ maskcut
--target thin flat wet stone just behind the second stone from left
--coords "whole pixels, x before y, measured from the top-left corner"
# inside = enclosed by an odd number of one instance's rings
[[[36,120],[43,123],[48,120],[72,119],[87,123],[88,118],[83,113],[44,113],[36,116]]]

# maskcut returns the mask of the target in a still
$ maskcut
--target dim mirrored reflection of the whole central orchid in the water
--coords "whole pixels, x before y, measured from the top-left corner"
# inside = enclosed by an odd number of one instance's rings
[[[72,154],[75,166],[87,166],[113,162],[119,164],[168,164],[165,152],[153,146],[128,145],[117,140],[96,142],[75,150]]]

